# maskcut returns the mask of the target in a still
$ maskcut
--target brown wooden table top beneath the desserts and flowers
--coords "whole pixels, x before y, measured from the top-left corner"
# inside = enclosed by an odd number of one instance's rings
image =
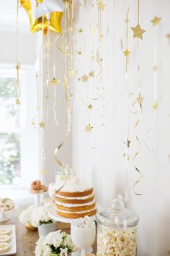
[[[22,223],[19,222],[18,218],[13,218],[9,221],[1,223],[1,225],[14,224],[16,225],[17,232],[17,254],[15,256],[35,256],[35,243],[38,239],[37,231],[28,231]],[[57,223],[57,229],[62,229],[66,233],[70,234],[70,224],[68,223]],[[96,242],[94,242],[93,248],[96,252]]]

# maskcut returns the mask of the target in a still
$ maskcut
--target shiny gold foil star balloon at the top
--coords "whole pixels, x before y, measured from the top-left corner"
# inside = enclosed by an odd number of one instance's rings
[[[39,0],[43,1],[43,0]],[[32,16],[32,7],[30,0],[20,0],[20,4],[26,10],[29,18],[30,18],[30,31],[31,33],[35,33],[39,30],[47,31],[49,30],[54,31],[55,33],[61,33],[61,16],[63,12],[51,12],[50,13],[50,20],[47,20],[45,15],[43,17],[35,19]]]

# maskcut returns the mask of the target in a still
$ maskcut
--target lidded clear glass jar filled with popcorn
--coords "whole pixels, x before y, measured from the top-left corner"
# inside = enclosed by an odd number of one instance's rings
[[[97,256],[136,256],[138,215],[120,199],[97,213]]]

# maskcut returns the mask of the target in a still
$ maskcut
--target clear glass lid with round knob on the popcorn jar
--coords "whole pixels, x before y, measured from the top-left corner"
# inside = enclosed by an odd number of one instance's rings
[[[104,226],[128,228],[138,225],[138,214],[124,207],[120,199],[112,200],[111,207],[97,213],[97,220]]]

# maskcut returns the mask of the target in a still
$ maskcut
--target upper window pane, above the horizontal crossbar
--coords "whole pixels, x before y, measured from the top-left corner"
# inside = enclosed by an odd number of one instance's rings
[[[17,79],[0,77],[0,118],[1,131],[19,128],[19,106],[17,98]]]

